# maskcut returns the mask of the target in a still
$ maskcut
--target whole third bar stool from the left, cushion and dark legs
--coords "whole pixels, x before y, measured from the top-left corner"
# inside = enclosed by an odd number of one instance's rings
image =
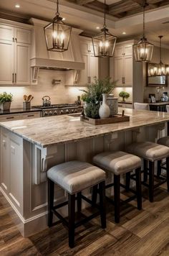
[[[143,158],[144,160],[144,181],[143,185],[149,188],[149,200],[150,202],[154,201],[154,189],[167,181],[168,191],[169,191],[169,147],[159,145],[153,142],[135,142],[126,147],[126,151],[130,154],[135,154],[138,157]],[[167,178],[163,181],[160,181],[157,184],[154,184],[155,177],[155,161],[159,163],[161,160],[166,158],[167,165]],[[149,163],[149,168],[148,168]],[[146,183],[149,175],[149,184]],[[134,178],[131,176],[131,178]],[[128,182],[129,183],[129,182]]]

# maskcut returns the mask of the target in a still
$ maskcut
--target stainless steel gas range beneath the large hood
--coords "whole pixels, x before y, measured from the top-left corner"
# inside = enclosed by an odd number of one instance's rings
[[[32,106],[34,109],[42,109],[42,116],[58,116],[82,112],[83,107],[77,104],[54,104],[50,106]]]

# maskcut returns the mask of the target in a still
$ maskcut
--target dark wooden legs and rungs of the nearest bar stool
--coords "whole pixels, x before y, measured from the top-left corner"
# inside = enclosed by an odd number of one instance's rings
[[[102,181],[98,184],[99,186],[99,194],[100,194],[100,205],[93,204],[93,202],[82,195],[82,192],[75,194],[68,193],[68,201],[65,201],[62,204],[58,204],[54,206],[54,182],[48,178],[48,226],[53,227],[58,223],[64,224],[69,231],[69,247],[74,247],[74,230],[75,228],[81,226],[82,224],[90,221],[96,216],[100,215],[102,229],[106,228],[106,209],[105,209],[105,181]],[[91,214],[90,216],[84,216],[81,214],[82,209],[82,199],[87,201],[87,203],[91,204],[93,207],[97,208],[95,214]],[[77,216],[83,216],[84,219],[77,221],[75,223],[75,201],[77,200]],[[57,209],[68,205],[68,221],[57,211]],[[53,214],[57,216],[59,221],[53,223]]]

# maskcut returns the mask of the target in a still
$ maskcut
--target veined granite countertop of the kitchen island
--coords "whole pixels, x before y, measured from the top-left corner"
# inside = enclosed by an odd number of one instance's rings
[[[1,122],[0,125],[35,145],[47,147],[169,122],[169,113],[164,112],[126,109],[125,114],[130,115],[130,122],[98,126],[81,122],[79,116],[69,115]]]

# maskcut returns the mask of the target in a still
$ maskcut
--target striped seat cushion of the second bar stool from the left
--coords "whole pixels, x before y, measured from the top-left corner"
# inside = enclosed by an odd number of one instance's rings
[[[115,175],[130,172],[141,167],[141,159],[122,151],[102,152],[93,157],[93,163]]]

